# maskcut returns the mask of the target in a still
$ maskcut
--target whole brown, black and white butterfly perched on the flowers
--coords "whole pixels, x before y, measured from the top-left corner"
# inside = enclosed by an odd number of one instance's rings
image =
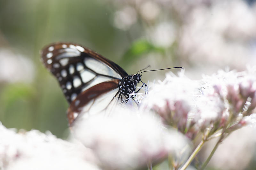
[[[88,116],[116,101],[127,102],[144,85],[147,87],[139,72],[129,75],[116,63],[79,44],[54,43],[40,53],[44,66],[58,79],[70,104],[69,126],[81,113]],[[136,91],[139,82],[143,84]]]

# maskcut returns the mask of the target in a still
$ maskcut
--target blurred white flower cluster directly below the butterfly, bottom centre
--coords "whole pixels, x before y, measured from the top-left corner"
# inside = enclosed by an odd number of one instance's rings
[[[156,115],[127,107],[113,110],[109,116],[98,114],[77,120],[72,132],[93,150],[103,169],[145,168],[149,161],[155,164],[170,153],[181,159],[181,150],[187,144],[175,131],[163,129]]]

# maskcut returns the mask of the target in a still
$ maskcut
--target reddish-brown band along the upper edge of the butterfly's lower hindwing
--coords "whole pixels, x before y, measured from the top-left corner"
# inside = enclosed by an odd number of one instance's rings
[[[68,125],[72,126],[72,123],[76,120],[81,110],[86,106],[91,100],[95,100],[100,95],[103,95],[111,90],[118,88],[118,79],[112,79],[106,82],[99,83],[92,86],[91,88],[80,93],[74,101],[70,103],[68,108]],[[118,91],[117,91],[118,92]],[[114,96],[113,96],[114,97]]]

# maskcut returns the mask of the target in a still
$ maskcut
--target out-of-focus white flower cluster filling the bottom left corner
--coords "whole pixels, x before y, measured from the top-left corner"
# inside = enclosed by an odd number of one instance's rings
[[[81,144],[38,130],[16,133],[0,123],[0,169],[99,170],[95,160],[93,153]]]

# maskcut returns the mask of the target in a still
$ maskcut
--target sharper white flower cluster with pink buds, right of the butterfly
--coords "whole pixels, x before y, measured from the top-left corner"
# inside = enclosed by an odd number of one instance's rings
[[[219,71],[201,81],[169,74],[151,87],[141,108],[153,109],[191,139],[222,128],[231,132],[248,124],[256,107],[256,72],[249,72]]]

